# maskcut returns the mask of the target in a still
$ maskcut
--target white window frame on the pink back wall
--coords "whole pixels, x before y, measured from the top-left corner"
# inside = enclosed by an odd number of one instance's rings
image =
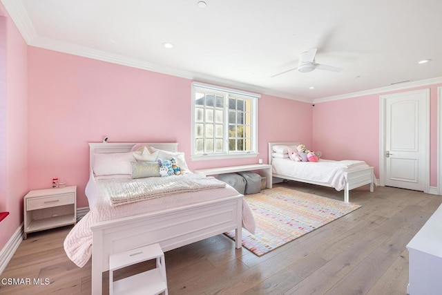
[[[197,90],[208,89],[210,91],[215,91],[222,93],[225,96],[224,99],[224,151],[223,152],[213,152],[213,153],[195,153],[195,93]],[[251,151],[244,152],[229,152],[226,151],[229,146],[229,95],[233,95],[238,98],[246,98],[251,100]],[[193,161],[201,160],[222,160],[222,159],[233,159],[233,158],[253,158],[259,155],[258,153],[258,98],[261,95],[257,93],[249,93],[247,91],[240,91],[233,88],[227,88],[222,86],[215,86],[211,84],[204,84],[201,82],[192,82],[192,122],[191,122],[191,159]]]

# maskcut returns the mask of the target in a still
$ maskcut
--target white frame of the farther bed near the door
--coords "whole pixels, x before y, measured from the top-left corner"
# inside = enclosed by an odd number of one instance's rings
[[[298,144],[300,144],[300,142],[269,142],[269,164],[271,164],[271,160],[273,159],[273,157],[271,156],[271,154],[273,153],[272,146],[274,145],[297,146]],[[345,177],[344,202],[349,202],[349,191],[352,189],[356,189],[356,187],[362,187],[363,185],[369,184],[370,191],[371,192],[374,191],[373,169],[374,167],[369,167],[358,171],[350,171],[344,173]],[[316,182],[314,180],[294,178],[290,175],[281,175],[273,172],[273,179],[275,178],[318,184],[323,187],[332,187],[332,185],[328,184],[327,182]]]

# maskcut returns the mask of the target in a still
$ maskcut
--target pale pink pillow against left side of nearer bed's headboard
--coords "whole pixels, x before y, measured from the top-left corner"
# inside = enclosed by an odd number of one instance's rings
[[[96,153],[93,170],[95,175],[132,175],[133,153]]]

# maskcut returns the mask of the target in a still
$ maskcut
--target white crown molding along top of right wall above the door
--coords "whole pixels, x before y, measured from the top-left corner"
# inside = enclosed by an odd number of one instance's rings
[[[367,91],[358,91],[358,92],[347,93],[347,94],[343,94],[343,95],[334,95],[334,96],[329,96],[329,97],[318,98],[318,99],[314,99],[313,103],[319,104],[320,102],[332,102],[334,100],[361,97],[361,96],[365,96],[365,95],[373,95],[373,94],[386,93],[386,92],[391,92],[391,91],[401,91],[401,90],[405,90],[405,89],[434,85],[434,84],[439,84],[439,83],[442,83],[442,77],[436,77],[436,78],[432,78],[432,79],[425,79],[425,80],[419,80],[419,81],[414,81],[414,82],[408,82],[406,84],[404,83],[404,84],[398,84],[398,85],[385,86],[385,87],[381,87],[381,88],[374,88],[374,89],[369,89]]]

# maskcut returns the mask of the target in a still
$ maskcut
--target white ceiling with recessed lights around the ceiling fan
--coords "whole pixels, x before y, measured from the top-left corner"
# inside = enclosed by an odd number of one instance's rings
[[[30,46],[306,102],[442,77],[441,0],[1,2]],[[344,70],[271,77],[310,48]]]

